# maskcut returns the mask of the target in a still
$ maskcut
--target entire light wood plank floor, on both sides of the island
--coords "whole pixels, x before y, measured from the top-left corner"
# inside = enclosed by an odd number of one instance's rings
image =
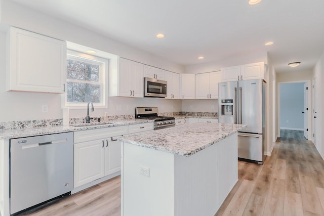
[[[323,206],[324,161],[303,132],[282,130],[263,165],[238,161],[238,182],[216,216],[324,215]],[[120,215],[120,177],[30,215]]]

